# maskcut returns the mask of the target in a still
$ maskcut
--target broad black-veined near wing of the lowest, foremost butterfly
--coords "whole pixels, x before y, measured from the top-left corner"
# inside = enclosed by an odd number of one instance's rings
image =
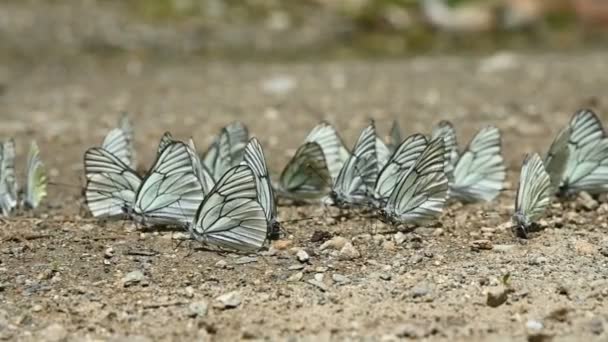
[[[221,249],[254,252],[264,246],[268,222],[248,165],[235,166],[218,180],[189,230],[198,241]]]

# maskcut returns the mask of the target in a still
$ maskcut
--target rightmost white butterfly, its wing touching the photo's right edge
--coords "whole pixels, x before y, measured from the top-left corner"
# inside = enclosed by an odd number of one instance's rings
[[[591,110],[580,110],[570,120],[568,162],[559,193],[608,191],[608,138]]]

